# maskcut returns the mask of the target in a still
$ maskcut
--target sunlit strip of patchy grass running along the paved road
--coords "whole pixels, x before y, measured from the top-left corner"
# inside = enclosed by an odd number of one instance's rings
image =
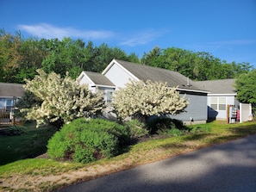
[[[3,181],[0,183],[0,189],[51,191],[60,186],[90,180],[119,170],[127,170],[140,164],[148,164],[256,133],[256,122],[227,124],[224,121],[213,121],[191,127],[196,130],[195,133],[165,139],[152,138],[147,142],[129,146],[122,155],[101,159],[91,164],[59,162],[49,158],[29,158],[5,164],[0,166],[0,181]],[[74,174],[76,172],[83,174]],[[30,182],[20,181],[17,175],[23,178],[28,177]],[[49,182],[47,178],[50,176],[55,176],[55,180],[51,177],[51,182]],[[15,185],[20,186],[19,188],[11,183],[13,179],[16,179]]]

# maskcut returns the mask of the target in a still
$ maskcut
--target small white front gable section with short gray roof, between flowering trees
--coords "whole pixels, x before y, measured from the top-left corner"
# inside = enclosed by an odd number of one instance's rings
[[[104,101],[111,102],[112,94],[116,89],[115,84],[109,81],[109,79],[101,73],[82,71],[78,77],[79,84],[88,84],[89,90],[95,93],[97,90],[102,90],[104,93]]]

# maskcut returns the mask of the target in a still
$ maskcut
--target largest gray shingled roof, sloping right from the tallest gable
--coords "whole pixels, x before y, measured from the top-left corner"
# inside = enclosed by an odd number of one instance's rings
[[[169,87],[178,86],[178,89],[205,90],[197,87],[197,85],[191,80],[189,81],[190,84],[188,85],[187,77],[184,77],[184,75],[178,73],[177,71],[165,70],[148,65],[139,65],[118,59],[116,59],[116,61],[125,69],[133,73],[135,77],[138,77],[144,82],[151,80],[153,82],[166,82]]]

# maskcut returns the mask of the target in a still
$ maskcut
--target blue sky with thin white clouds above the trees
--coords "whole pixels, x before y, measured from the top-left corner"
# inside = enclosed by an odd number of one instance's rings
[[[91,40],[142,57],[155,46],[256,68],[256,0],[0,0],[0,28]]]

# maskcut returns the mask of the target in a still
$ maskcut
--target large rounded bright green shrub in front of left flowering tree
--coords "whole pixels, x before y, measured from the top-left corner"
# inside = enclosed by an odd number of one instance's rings
[[[128,142],[127,127],[102,119],[79,118],[53,135],[47,153],[51,158],[89,163],[117,155]]]

